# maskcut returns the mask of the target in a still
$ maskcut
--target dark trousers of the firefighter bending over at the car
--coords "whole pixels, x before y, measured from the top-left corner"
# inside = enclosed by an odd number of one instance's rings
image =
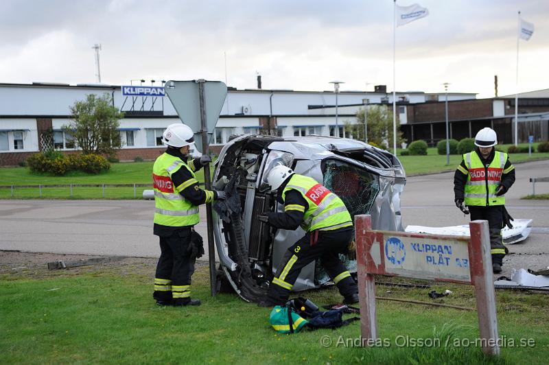
[[[347,246],[353,237],[353,229],[349,227],[334,231],[318,231],[318,240],[311,246],[311,233],[288,248],[282,257],[277,274],[269,287],[269,298],[277,304],[288,301],[290,290],[301,269],[316,259],[326,270],[332,281],[338,287],[342,296],[358,293],[358,287],[340,261],[338,254],[347,252]]]

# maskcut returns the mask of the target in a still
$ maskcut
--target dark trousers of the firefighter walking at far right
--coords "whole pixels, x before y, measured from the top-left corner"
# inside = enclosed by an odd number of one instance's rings
[[[469,206],[471,212],[471,221],[487,220],[490,230],[490,251],[492,262],[502,264],[506,248],[502,241],[503,228],[503,205],[493,205],[491,207]]]

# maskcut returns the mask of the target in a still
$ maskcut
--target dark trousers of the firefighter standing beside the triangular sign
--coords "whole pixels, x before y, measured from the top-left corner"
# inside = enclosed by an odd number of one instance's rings
[[[154,293],[156,301],[185,303],[191,297],[191,276],[196,259],[189,257],[191,229],[160,237],[160,258],[156,264]]]

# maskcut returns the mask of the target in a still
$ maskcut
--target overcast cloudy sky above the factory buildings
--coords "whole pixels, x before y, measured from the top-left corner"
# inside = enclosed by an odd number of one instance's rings
[[[414,0],[398,0],[411,5]],[[515,93],[549,88],[548,0],[419,0],[430,14],[397,28],[397,91]],[[391,0],[1,0],[0,83],[226,80],[238,89],[393,90]],[[369,83],[366,86],[366,82]],[[150,82],[148,82],[150,84]]]

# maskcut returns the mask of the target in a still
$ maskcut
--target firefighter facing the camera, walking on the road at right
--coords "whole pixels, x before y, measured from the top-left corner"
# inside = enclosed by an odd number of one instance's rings
[[[454,202],[462,211],[468,207],[472,220],[487,220],[494,274],[502,272],[506,248],[501,231],[509,222],[505,193],[515,183],[515,167],[507,154],[495,151],[498,137],[491,128],[483,128],[475,137],[476,150],[463,155],[454,174]],[[512,218],[511,218],[512,219]]]

